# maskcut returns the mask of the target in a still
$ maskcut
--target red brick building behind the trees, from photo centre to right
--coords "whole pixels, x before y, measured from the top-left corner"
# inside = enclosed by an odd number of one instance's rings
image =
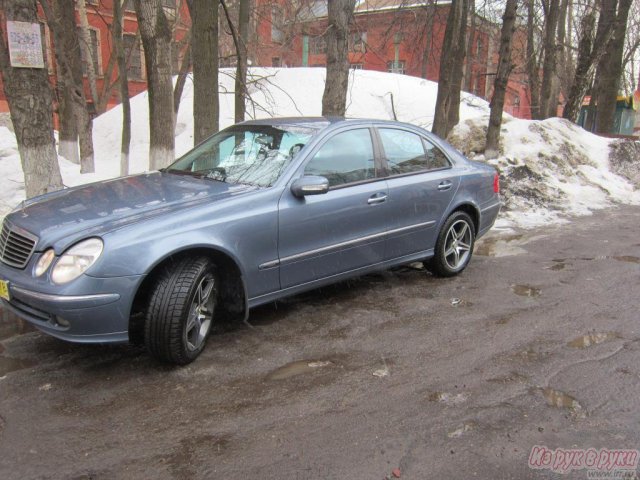
[[[260,66],[324,67],[326,64],[327,2],[256,0],[254,64]],[[302,6],[300,6],[302,3]],[[358,0],[349,38],[352,68],[388,71],[438,80],[440,55],[451,2],[434,6],[425,0]],[[467,28],[470,55],[464,89],[487,100],[498,64],[500,25],[476,15]],[[530,118],[524,75],[526,35],[513,40],[516,64],[509,81],[505,110]]]

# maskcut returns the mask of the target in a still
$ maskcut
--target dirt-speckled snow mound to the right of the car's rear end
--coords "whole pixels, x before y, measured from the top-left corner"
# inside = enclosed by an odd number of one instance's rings
[[[486,115],[466,119],[449,140],[471,158],[484,161],[477,153],[484,149],[488,122]],[[500,142],[499,158],[487,163],[500,171],[503,221],[532,227],[588,215],[614,203],[640,205],[633,177],[640,159],[630,158],[631,147],[620,146],[637,142],[599,137],[561,118],[512,117],[502,124]],[[610,166],[610,155],[618,159],[617,168]]]

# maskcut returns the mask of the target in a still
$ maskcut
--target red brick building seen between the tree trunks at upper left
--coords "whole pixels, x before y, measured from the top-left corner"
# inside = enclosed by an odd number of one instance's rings
[[[73,1],[73,0],[54,0]],[[91,36],[91,51],[94,59],[94,69],[97,74],[97,87],[101,96],[104,96],[106,108],[111,108],[120,102],[117,79],[118,69],[115,65],[115,55],[113,53],[113,40],[111,35],[111,25],[113,22],[113,1],[114,0],[86,0],[87,19],[89,21]],[[163,0],[167,17],[172,22],[174,29],[175,48],[174,70],[177,72],[179,62],[182,58],[186,44],[185,34],[189,30],[191,19],[185,0]],[[77,16],[77,12],[76,12]],[[47,26],[44,12],[38,7],[38,20],[41,24],[42,48],[44,52],[45,67],[49,72],[51,85],[56,85],[56,63],[54,56],[55,44],[52,32]],[[0,12],[0,21],[4,24],[4,16]],[[79,25],[79,20],[76,22]],[[144,66],[144,52],[142,42],[138,32],[138,22],[133,6],[133,0],[127,0],[124,4],[123,22],[125,51],[128,66],[129,92],[131,96],[146,90],[146,71]],[[80,40],[82,41],[82,40]],[[85,75],[85,89],[89,94],[88,80]],[[56,96],[54,95],[54,98]],[[55,107],[55,105],[54,105]],[[9,107],[2,88],[0,78],[0,112],[8,112]]]

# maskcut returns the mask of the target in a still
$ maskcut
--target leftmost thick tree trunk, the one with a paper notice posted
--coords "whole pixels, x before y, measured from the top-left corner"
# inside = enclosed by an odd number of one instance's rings
[[[33,0],[0,2],[9,21],[38,23]],[[0,24],[0,72],[18,151],[27,198],[62,188],[53,138],[52,94],[46,68],[14,68]]]

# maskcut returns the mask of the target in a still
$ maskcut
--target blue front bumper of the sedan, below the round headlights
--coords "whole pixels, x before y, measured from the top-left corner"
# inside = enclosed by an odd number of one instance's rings
[[[36,291],[31,285],[20,283],[20,273],[0,267],[0,278],[9,282],[10,294],[10,300],[3,299],[2,303],[38,329],[77,343],[129,341],[131,304],[142,276],[85,275],[71,282],[73,286],[65,286],[64,293],[55,293]]]

